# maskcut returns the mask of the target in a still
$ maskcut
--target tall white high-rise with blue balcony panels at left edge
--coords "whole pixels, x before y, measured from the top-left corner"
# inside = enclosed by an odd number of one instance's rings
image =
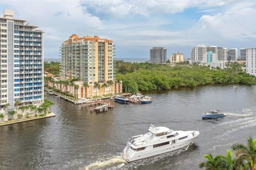
[[[14,19],[13,10],[0,18],[0,106],[43,101],[43,31]]]

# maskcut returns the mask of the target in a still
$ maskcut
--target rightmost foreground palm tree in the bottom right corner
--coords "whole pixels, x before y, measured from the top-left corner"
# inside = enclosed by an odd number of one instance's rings
[[[241,167],[245,163],[251,170],[256,169],[256,139],[249,137],[247,147],[235,144],[231,147],[236,154],[235,167]]]

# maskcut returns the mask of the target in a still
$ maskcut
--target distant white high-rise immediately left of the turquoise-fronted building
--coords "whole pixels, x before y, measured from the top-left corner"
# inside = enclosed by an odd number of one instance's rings
[[[207,63],[207,48],[204,45],[197,45],[191,50],[191,63]]]

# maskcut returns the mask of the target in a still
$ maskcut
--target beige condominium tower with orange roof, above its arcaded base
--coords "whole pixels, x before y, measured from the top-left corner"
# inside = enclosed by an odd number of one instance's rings
[[[113,80],[113,47],[113,41],[97,36],[70,36],[61,46],[61,78],[79,78],[89,85]]]

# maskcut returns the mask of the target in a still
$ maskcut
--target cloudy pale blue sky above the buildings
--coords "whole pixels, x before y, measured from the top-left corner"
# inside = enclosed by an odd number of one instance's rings
[[[114,41],[116,58],[148,58],[152,47],[190,57],[195,45],[256,47],[255,0],[0,1],[44,33],[44,58],[60,58],[70,35]]]

